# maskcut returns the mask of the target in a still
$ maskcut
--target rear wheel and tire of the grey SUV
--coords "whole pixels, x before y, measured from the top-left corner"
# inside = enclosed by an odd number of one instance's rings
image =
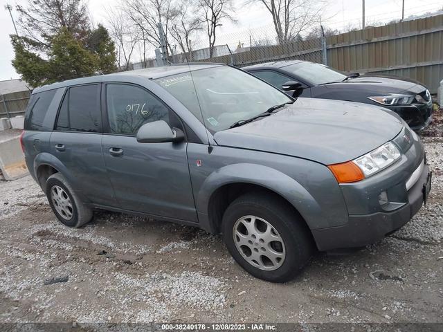
[[[49,176],[45,189],[49,205],[57,219],[64,225],[79,228],[91,221],[92,210],[80,201],[62,174],[55,173]]]

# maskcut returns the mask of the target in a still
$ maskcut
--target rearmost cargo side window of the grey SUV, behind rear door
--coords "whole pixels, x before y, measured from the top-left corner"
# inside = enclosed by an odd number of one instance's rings
[[[46,128],[43,125],[44,117],[48,112],[55,92],[57,90],[44,91],[35,93],[29,100],[29,115],[25,122],[26,130],[50,131],[51,128]]]

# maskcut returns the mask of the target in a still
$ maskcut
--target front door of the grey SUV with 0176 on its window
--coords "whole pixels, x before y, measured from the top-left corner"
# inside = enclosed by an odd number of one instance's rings
[[[133,84],[105,84],[107,116],[102,149],[118,207],[172,219],[197,221],[186,148],[188,143],[139,143],[138,129],[181,120],[150,91]]]

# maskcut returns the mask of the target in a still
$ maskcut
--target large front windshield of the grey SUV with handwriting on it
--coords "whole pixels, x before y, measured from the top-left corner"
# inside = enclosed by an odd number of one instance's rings
[[[200,122],[203,113],[204,124],[213,132],[292,101],[273,86],[229,66],[199,69],[192,75],[181,73],[154,82],[174,95]]]

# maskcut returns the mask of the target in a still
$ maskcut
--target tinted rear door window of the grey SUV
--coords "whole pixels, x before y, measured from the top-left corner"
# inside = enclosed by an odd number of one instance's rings
[[[69,88],[60,106],[55,129],[100,132],[100,85],[88,84]]]

